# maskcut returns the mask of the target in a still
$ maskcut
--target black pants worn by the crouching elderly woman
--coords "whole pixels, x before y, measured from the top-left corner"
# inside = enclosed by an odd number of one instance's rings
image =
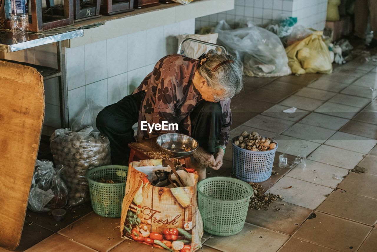
[[[112,164],[128,164],[128,144],[135,142],[132,125],[138,122],[144,95],[144,92],[128,95],[98,113],[96,125],[110,140]],[[214,153],[222,127],[220,104],[201,100],[190,113],[190,119],[191,136],[198,141],[200,147]]]

